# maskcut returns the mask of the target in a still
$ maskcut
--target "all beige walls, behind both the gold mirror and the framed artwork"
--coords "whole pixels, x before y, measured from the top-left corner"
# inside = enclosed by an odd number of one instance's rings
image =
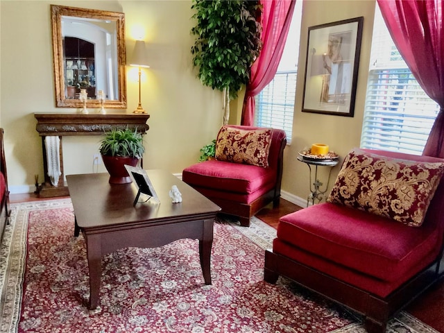
[[[54,106],[51,3],[124,12],[127,57],[135,40],[131,35],[133,26],[143,27],[151,61],[151,68],[144,70],[146,78],[142,80],[142,105],[151,114],[144,167],[180,173],[195,162],[200,147],[215,137],[223,112],[221,93],[203,87],[191,66],[191,1],[1,0],[0,126],[5,129],[8,180],[12,190],[33,191],[34,175],[43,179],[42,142],[35,131],[33,113],[72,111]],[[285,151],[282,183],[284,196],[290,200],[306,198],[308,194],[308,168],[296,160],[298,151],[314,142],[323,142],[344,156],[352,146],[359,146],[374,6],[375,0],[304,3],[293,143]],[[301,112],[307,28],[359,16],[364,16],[364,36],[355,117]],[[127,112],[132,112],[137,106],[138,85],[130,67],[127,67],[127,78]],[[241,104],[241,101],[232,103],[230,123],[239,123]],[[92,155],[98,151],[99,139],[96,136],[64,137],[65,174],[93,171]],[[104,171],[103,166],[99,171]],[[337,167],[333,178],[336,173]]]

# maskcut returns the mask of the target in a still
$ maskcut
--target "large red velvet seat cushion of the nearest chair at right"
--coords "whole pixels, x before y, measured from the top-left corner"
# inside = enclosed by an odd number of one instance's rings
[[[438,255],[441,235],[434,223],[409,228],[354,208],[321,203],[282,216],[278,239],[353,271],[406,281]]]

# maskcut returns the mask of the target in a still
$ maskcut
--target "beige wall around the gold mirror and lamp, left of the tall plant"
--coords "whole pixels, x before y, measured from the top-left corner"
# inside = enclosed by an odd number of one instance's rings
[[[146,169],[180,173],[196,162],[222,123],[219,92],[203,87],[191,66],[191,1],[1,1],[1,123],[12,190],[43,179],[42,142],[33,112],[55,108],[50,4],[124,12],[129,57],[134,25],[146,33],[150,69],[144,69],[142,105],[151,118],[145,138]],[[137,76],[127,67],[128,111],[138,102]],[[92,172],[99,136],[64,137],[65,174]],[[104,171],[103,165],[101,171]],[[33,190],[33,188],[32,188]]]

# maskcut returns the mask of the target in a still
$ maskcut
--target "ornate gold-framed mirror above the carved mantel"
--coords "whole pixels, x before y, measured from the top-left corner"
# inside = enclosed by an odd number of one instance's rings
[[[56,107],[126,108],[125,14],[51,5],[51,21]]]

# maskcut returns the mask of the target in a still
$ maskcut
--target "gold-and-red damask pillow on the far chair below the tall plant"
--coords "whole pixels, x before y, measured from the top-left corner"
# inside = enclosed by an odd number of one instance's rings
[[[273,128],[243,130],[222,126],[216,139],[216,160],[268,167]]]

